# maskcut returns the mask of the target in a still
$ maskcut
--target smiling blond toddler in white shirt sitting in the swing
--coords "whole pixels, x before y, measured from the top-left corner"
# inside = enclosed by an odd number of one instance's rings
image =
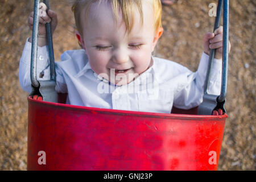
[[[160,0],[77,0],[72,10],[82,49],[64,52],[55,63],[55,89],[68,93],[67,104],[155,113],[171,113],[172,106],[191,109],[203,101],[210,48],[217,50],[209,93],[220,94],[222,27],[205,34],[204,53],[193,73],[152,56],[163,33]],[[38,80],[49,80],[47,22],[52,22],[54,31],[54,11],[40,17]],[[31,29],[32,23],[31,13]],[[19,68],[20,85],[27,92],[31,92],[30,56],[31,38]]]

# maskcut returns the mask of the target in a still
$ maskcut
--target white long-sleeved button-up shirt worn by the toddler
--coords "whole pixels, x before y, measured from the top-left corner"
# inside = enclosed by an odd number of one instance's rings
[[[56,91],[68,93],[67,104],[106,109],[171,113],[172,106],[191,109],[203,101],[209,56],[202,54],[197,71],[170,60],[152,57],[146,72],[127,85],[116,86],[98,76],[83,49],[66,51],[55,62]],[[19,64],[22,89],[31,92],[31,43],[26,42]],[[195,61],[192,60],[192,63]],[[214,59],[209,94],[220,94],[221,60]],[[39,76],[40,75],[40,76]],[[38,47],[37,78],[49,80],[48,46]]]

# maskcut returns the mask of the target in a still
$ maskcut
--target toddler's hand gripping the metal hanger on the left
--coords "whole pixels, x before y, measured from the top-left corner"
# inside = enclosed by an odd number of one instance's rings
[[[57,27],[57,14],[52,11],[47,10],[47,6],[44,3],[40,3],[40,18],[39,18],[39,32],[38,32],[38,46],[46,46],[47,40],[46,40],[46,23],[52,22],[52,34],[55,31]],[[28,16],[27,22],[28,26],[30,27],[31,30],[33,30],[33,18],[34,18],[34,11],[31,12],[30,16]],[[31,37],[28,39],[28,42],[31,41]]]

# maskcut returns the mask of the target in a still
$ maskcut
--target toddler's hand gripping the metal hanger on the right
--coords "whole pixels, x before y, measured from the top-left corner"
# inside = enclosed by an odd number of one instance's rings
[[[210,49],[216,49],[215,57],[216,59],[222,58],[222,36],[223,36],[223,27],[218,27],[214,33],[207,32],[204,35],[204,52],[208,55],[210,54]],[[229,52],[231,44],[229,42]]]

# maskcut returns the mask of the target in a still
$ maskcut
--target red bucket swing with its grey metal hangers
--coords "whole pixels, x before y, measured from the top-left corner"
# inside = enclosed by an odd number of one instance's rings
[[[48,23],[52,77],[49,81],[36,80],[39,2],[35,0],[32,92],[28,97],[28,170],[217,170],[228,115],[211,114],[213,110],[226,113],[225,97],[224,101],[220,100],[225,96],[222,94],[225,89],[221,89],[218,97],[205,92],[204,108],[200,105],[198,109],[203,115],[195,115],[197,108],[188,111],[174,108],[172,114],[161,114],[65,104],[67,94],[57,96],[55,92],[54,56]],[[47,0],[44,3],[48,6]],[[220,22],[222,3],[222,0],[218,2],[214,29]],[[224,87],[227,45],[228,1],[224,0]]]

